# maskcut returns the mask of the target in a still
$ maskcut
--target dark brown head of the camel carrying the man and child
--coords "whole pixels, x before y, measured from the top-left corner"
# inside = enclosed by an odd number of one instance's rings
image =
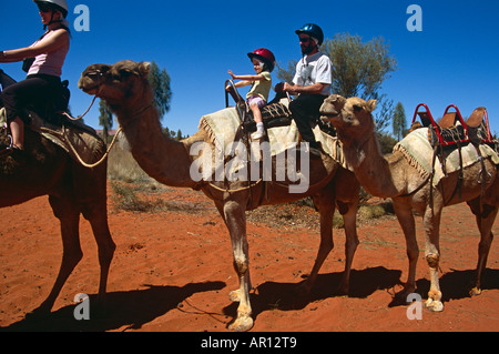
[[[92,64],[81,74],[78,87],[108,102],[111,109],[151,102],[153,93],[147,81],[149,62],[122,60],[113,65]]]

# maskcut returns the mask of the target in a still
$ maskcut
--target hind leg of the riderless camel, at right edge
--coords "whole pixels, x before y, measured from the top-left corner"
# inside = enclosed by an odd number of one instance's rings
[[[478,264],[477,264],[477,273],[475,281],[472,283],[472,289],[470,290],[470,295],[479,295],[481,294],[481,275],[487,265],[487,259],[490,251],[490,245],[492,244],[493,234],[492,234],[492,225],[496,221],[498,208],[491,205],[483,205],[483,210],[487,211],[487,214],[482,215],[480,213],[480,199],[476,199],[471,202],[468,202],[472,213],[476,216],[478,229],[480,230],[480,243],[478,245]]]

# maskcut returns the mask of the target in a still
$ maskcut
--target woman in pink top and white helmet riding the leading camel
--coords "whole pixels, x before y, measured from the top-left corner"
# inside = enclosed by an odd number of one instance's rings
[[[61,70],[69,51],[68,4],[65,0],[34,0],[47,32],[28,48],[0,51],[0,62],[18,62],[34,58],[28,77],[4,89],[1,101],[12,133],[13,148],[24,148],[24,114],[27,105],[47,107],[61,94]]]

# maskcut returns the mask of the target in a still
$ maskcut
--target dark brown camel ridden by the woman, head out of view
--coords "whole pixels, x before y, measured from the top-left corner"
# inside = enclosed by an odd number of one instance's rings
[[[90,222],[99,247],[99,297],[102,299],[115,250],[108,226],[106,162],[94,169],[84,168],[40,133],[26,129],[24,134],[24,151],[13,149],[10,155],[0,156],[0,208],[49,195],[50,205],[61,224],[63,245],[62,263],[52,291],[33,313],[51,311],[62,286],[83,256],[80,214]],[[0,141],[6,143],[7,140],[6,131],[0,131]],[[88,139],[85,143],[98,159],[105,152],[100,139]]]

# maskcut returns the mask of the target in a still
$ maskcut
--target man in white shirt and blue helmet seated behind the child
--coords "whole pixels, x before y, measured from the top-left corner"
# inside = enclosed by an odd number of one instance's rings
[[[319,118],[319,109],[324,100],[330,94],[332,62],[329,58],[319,52],[324,41],[320,27],[307,23],[295,31],[299,37],[303,58],[296,64],[294,84],[287,82],[283,91],[297,98],[289,103],[289,110],[296,122],[302,139],[309,143],[309,151],[320,156],[320,143],[315,140],[310,121]]]

